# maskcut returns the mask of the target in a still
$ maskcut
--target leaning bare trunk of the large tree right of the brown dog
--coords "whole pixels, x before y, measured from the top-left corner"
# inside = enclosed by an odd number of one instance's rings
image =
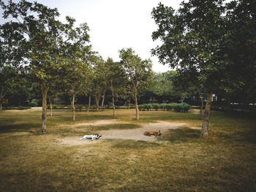
[[[201,129],[201,137],[208,137],[208,125],[209,125],[210,112],[211,112],[211,96],[212,96],[212,92],[207,96],[206,110],[204,113],[203,124]]]

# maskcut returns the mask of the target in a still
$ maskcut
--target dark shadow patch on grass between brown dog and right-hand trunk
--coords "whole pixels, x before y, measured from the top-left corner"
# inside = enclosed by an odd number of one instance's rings
[[[170,129],[167,134],[159,137],[160,141],[191,142],[200,138],[200,130],[192,128]]]

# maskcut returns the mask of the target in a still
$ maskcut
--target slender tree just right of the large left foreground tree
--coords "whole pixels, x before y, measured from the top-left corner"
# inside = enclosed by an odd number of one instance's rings
[[[89,43],[89,27],[86,23],[75,28],[75,19],[67,17],[69,25],[65,31],[66,38],[62,50],[66,58],[64,68],[64,87],[72,96],[72,120],[75,120],[75,96],[83,93],[85,85],[90,81],[91,45]]]

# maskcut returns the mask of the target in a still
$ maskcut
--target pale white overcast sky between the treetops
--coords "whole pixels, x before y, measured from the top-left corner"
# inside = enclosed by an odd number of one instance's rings
[[[151,11],[160,1],[173,9],[178,9],[181,3],[181,0],[37,0],[56,7],[61,21],[69,15],[78,25],[87,23],[93,50],[105,60],[110,57],[119,61],[118,50],[132,47],[140,58],[151,58],[154,72],[166,72],[170,67],[159,64],[158,58],[150,53],[161,44],[151,38],[157,30]]]

